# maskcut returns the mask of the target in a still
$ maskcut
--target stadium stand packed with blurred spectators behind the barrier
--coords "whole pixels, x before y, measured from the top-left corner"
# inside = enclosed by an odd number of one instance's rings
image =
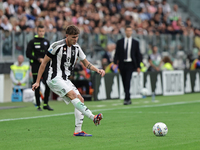
[[[25,55],[35,27],[43,23],[51,43],[64,37],[66,26],[77,25],[79,44],[101,66],[106,46],[123,37],[125,25],[130,24],[146,66],[153,45],[179,66],[178,51],[193,54],[193,59],[199,51],[200,19],[192,11],[194,4],[198,6],[192,0],[0,0],[0,63],[5,66]]]

